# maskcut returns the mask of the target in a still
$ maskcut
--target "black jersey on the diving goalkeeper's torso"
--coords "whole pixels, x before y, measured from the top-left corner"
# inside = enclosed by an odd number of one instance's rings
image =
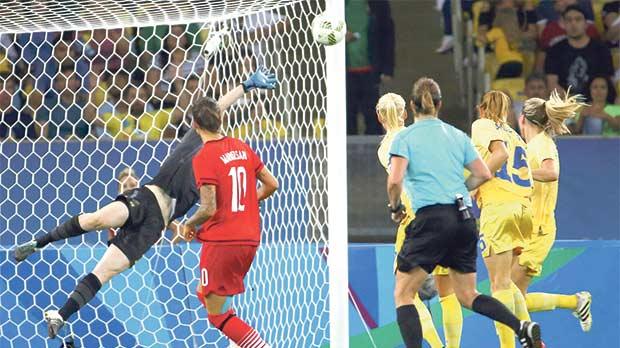
[[[185,215],[200,197],[192,159],[202,146],[202,139],[194,129],[191,129],[166,157],[153,180],[147,184],[160,187],[176,200],[172,220]]]

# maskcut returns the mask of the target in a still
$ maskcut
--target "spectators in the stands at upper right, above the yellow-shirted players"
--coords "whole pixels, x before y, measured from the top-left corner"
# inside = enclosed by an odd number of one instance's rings
[[[491,87],[514,100],[546,98],[557,89],[582,94],[589,107],[570,125],[573,134],[620,135],[620,1],[461,0],[486,48]],[[454,45],[451,0],[441,6],[444,37],[438,53]]]

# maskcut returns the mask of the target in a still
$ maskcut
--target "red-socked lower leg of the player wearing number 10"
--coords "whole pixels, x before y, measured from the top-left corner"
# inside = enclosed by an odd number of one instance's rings
[[[199,292],[200,295],[200,292]],[[209,313],[209,322],[240,348],[268,348],[258,332],[228,308],[230,297],[209,293],[202,297]]]

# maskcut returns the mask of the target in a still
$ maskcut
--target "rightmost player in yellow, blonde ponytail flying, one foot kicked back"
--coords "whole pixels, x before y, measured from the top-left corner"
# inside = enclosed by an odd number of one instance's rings
[[[542,264],[555,241],[555,205],[560,161],[553,137],[568,133],[564,120],[573,117],[585,105],[579,102],[579,97],[561,98],[554,91],[549,100],[531,98],[525,102],[523,113],[519,117],[519,127],[527,142],[527,161],[534,178],[534,229],[519,256],[519,262],[512,270],[512,279],[524,295],[527,294],[532,278],[542,272]],[[574,295],[531,293],[525,297],[530,312],[555,308],[572,309],[583,331],[589,331],[592,326],[592,296],[589,292],[582,291]]]

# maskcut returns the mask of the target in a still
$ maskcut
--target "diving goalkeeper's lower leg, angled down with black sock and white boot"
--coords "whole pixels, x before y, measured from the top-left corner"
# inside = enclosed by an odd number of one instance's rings
[[[56,337],[71,315],[92,300],[101,287],[112,277],[123,272],[130,265],[131,262],[125,253],[115,244],[110,244],[93,272],[80,280],[65,304],[58,311],[50,310],[45,312],[49,337]]]

